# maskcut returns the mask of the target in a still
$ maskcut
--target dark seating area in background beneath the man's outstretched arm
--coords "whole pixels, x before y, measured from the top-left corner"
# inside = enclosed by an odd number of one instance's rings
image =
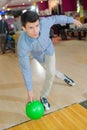
[[[78,39],[87,40],[87,23],[82,28],[75,27],[74,24],[58,26],[54,25],[50,32],[51,38],[60,36],[62,40]]]

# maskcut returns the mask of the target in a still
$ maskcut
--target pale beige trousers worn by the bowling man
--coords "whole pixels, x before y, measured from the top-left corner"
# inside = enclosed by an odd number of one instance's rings
[[[29,57],[31,60],[33,59],[32,55]],[[45,80],[41,91],[41,96],[47,97],[51,91],[54,77],[57,76],[61,80],[64,80],[64,74],[62,74],[59,70],[56,70],[55,53],[52,56],[46,55],[44,63],[40,64],[45,69]]]

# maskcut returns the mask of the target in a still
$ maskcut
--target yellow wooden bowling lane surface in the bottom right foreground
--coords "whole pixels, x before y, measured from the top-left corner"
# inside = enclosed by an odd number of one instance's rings
[[[39,120],[25,122],[8,130],[87,130],[87,109],[73,104],[43,116]]]

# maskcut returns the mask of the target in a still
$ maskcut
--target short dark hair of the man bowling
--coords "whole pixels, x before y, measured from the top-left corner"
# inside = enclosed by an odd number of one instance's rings
[[[39,19],[39,15],[34,11],[26,11],[21,15],[22,25],[25,27],[27,22],[36,22]]]

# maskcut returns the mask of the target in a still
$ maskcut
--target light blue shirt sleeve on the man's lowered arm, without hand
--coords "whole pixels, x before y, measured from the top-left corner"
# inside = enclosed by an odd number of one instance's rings
[[[30,66],[29,50],[24,42],[24,46],[22,46],[21,43],[22,39],[19,40],[17,46],[19,65],[27,90],[32,90],[32,71]]]

